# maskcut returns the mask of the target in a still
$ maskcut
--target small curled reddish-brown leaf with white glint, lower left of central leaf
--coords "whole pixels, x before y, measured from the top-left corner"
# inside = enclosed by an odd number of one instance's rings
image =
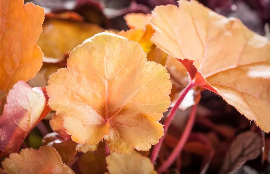
[[[55,148],[65,164],[73,160],[77,153],[77,143],[72,141],[71,138],[63,139],[57,133],[47,134],[43,137],[42,142],[47,146]]]

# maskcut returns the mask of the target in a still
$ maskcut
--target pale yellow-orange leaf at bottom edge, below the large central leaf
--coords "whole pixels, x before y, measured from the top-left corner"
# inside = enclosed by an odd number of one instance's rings
[[[131,154],[111,153],[106,157],[110,174],[154,174],[154,165],[149,158],[133,151]]]

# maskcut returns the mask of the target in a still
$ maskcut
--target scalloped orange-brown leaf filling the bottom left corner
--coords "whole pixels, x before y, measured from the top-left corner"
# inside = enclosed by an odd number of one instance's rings
[[[22,149],[20,154],[12,153],[2,162],[6,174],[75,174],[63,164],[57,151],[48,146]]]

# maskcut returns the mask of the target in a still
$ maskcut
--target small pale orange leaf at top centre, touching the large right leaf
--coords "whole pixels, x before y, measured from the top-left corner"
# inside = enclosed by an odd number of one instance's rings
[[[125,15],[124,19],[129,28],[145,30],[145,26],[149,24],[150,17],[151,14],[129,13]]]

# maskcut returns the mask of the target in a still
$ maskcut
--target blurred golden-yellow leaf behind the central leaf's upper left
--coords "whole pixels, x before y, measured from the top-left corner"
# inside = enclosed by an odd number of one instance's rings
[[[41,47],[44,56],[61,59],[85,39],[103,31],[96,24],[46,18],[37,45]]]

